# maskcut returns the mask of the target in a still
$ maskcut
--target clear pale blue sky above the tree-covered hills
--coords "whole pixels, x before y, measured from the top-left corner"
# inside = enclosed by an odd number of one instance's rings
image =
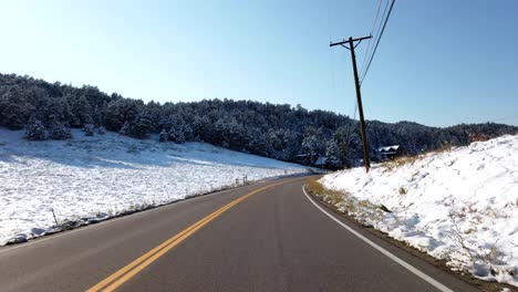
[[[387,0],[383,0],[383,3]],[[376,0],[6,1],[0,72],[144,101],[214,97],[353,115],[349,51]],[[367,119],[518,125],[518,1],[396,0],[362,86]],[[364,42],[358,48],[362,64]]]

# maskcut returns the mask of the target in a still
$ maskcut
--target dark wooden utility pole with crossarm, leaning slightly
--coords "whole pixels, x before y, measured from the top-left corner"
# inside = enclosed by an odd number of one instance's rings
[[[343,48],[351,51],[351,59],[352,59],[353,71],[354,71],[354,83],[356,85],[358,111],[360,112],[360,131],[362,134],[363,161],[365,163],[365,170],[367,173],[369,173],[369,169],[371,169],[371,158],[369,157],[369,145],[366,140],[365,119],[363,117],[362,93],[360,91],[360,79],[358,77],[356,55],[354,54],[354,48],[356,48],[356,45],[359,45],[363,40],[367,40],[371,38],[372,35],[363,36],[359,39],[349,38],[348,41],[343,40],[341,42],[329,44],[329,46],[342,45]],[[354,45],[354,42],[358,42],[356,45]],[[349,46],[346,46],[345,44],[349,44]]]

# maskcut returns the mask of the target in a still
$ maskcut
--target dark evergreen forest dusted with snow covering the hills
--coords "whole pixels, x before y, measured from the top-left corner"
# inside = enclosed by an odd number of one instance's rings
[[[204,142],[303,165],[327,157],[324,167],[330,169],[359,165],[362,158],[358,121],[328,111],[217,98],[146,103],[96,86],[17,74],[0,74],[0,126],[25,129],[25,138],[32,140],[69,139],[70,128],[82,128],[85,135],[112,131],[139,139],[157,135],[163,143]],[[403,154],[415,155],[516,134],[518,127],[485,123],[442,128],[367,121],[366,132],[372,150],[401,145]]]

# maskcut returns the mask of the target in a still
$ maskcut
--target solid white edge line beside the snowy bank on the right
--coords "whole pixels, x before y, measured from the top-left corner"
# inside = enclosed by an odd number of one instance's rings
[[[325,211],[322,207],[320,207],[317,202],[314,202],[310,196],[308,195],[308,192],[305,192],[305,186],[302,186],[302,191],[304,192],[305,197],[308,198],[308,200],[310,200],[317,208],[319,208],[324,215],[327,215],[329,218],[333,219],[333,221],[335,221],[336,223],[339,223],[341,227],[343,227],[344,229],[346,229],[349,232],[353,233],[354,236],[356,236],[359,239],[365,241],[369,246],[373,247],[374,249],[376,249],[377,251],[380,251],[381,253],[385,254],[386,257],[388,257],[391,260],[397,262],[398,264],[403,265],[403,268],[405,268],[406,270],[411,271],[412,273],[414,273],[415,275],[417,275],[418,278],[423,279],[424,281],[428,282],[429,284],[432,284],[433,286],[435,286],[436,289],[438,289],[439,291],[443,291],[443,292],[453,292],[453,290],[450,290],[449,288],[443,285],[442,283],[439,283],[438,281],[436,281],[435,279],[433,279],[432,277],[423,273],[422,271],[417,270],[416,268],[414,268],[413,265],[411,265],[410,263],[403,261],[402,259],[397,258],[396,255],[394,255],[393,253],[391,253],[390,251],[385,250],[384,248],[377,246],[376,243],[372,242],[371,240],[369,240],[366,237],[360,234],[358,231],[355,231],[354,229],[352,229],[351,227],[346,226],[345,223],[343,223],[342,221],[340,221],[339,219],[334,218],[334,216],[332,216],[331,213],[329,213],[328,211]]]

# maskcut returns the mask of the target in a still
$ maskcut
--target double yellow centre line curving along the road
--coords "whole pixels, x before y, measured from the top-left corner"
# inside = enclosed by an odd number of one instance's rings
[[[281,184],[286,184],[286,182],[289,182],[289,181],[293,181],[293,180],[296,180],[296,179],[288,180],[288,181],[282,181],[282,182],[278,182],[278,184],[273,184],[273,185],[269,185],[269,186],[256,189],[256,190],[253,190],[251,192],[248,192],[247,195],[245,195],[245,196],[242,196],[242,197],[227,204],[226,206],[219,208],[215,212],[208,215],[204,219],[197,221],[196,223],[191,225],[187,229],[183,230],[178,234],[176,234],[176,236],[169,238],[168,240],[164,241],[158,247],[156,247],[156,248],[149,250],[148,252],[144,253],[138,259],[134,260],[130,264],[125,265],[121,270],[116,271],[115,273],[113,273],[112,275],[110,275],[108,278],[106,278],[103,281],[99,282],[97,284],[95,284],[94,286],[92,286],[91,289],[89,289],[86,291],[87,292],[115,291],[115,289],[117,289],[118,286],[124,284],[126,281],[128,281],[134,275],[139,273],[142,270],[144,270],[146,267],[152,264],[158,258],[160,258],[166,252],[168,252],[169,250],[172,250],[173,248],[178,246],[182,241],[187,239],[189,236],[191,236],[194,232],[199,230],[201,227],[208,225],[216,217],[220,216],[221,213],[224,213],[228,209],[232,208],[234,206],[238,205],[239,202],[246,200],[247,198],[249,198],[250,196],[252,196],[252,195],[255,195],[257,192],[260,192],[260,191],[263,191],[263,190],[266,190],[268,188],[271,188],[271,187],[274,187],[274,186],[278,186],[278,185],[281,185]]]

